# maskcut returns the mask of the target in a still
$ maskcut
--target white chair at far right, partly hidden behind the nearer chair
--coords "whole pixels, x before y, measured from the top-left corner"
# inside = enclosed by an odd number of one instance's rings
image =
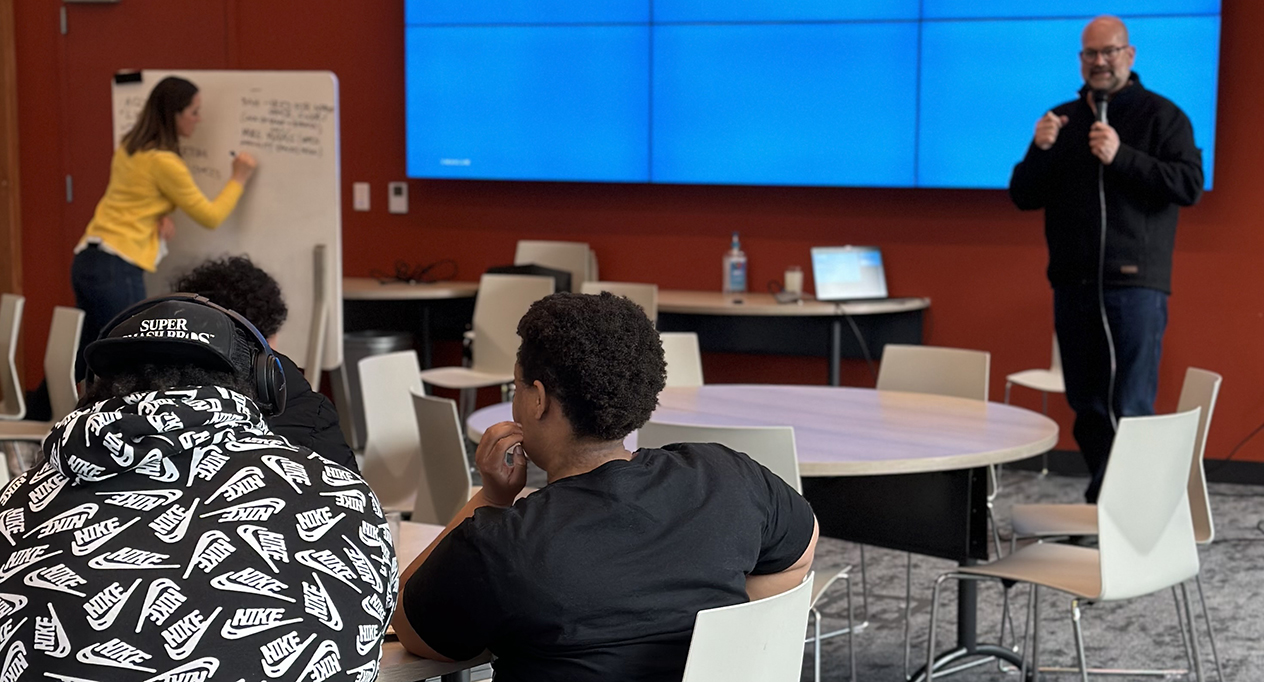
[[[1202,458],[1207,447],[1207,432],[1211,429],[1211,416],[1216,410],[1216,398],[1220,395],[1221,381],[1221,376],[1213,371],[1188,368],[1186,369],[1184,384],[1181,388],[1181,400],[1177,403],[1177,412],[1188,412],[1194,408],[1200,410],[1198,432],[1194,436],[1187,484],[1189,512],[1193,517],[1193,534],[1198,544],[1211,544],[1216,537]],[[1092,504],[1016,504],[1012,519],[1014,539],[1010,541],[1011,546],[1020,538],[1097,534],[1097,505]],[[1198,601],[1202,604],[1202,615],[1207,621],[1207,637],[1211,640],[1216,673],[1220,679],[1225,679],[1220,666],[1220,652],[1216,649],[1216,630],[1211,623],[1211,613],[1207,611],[1207,601],[1203,597],[1201,573],[1194,575],[1194,585],[1198,587]],[[1176,596],[1174,587],[1173,596]],[[1179,607],[1179,600],[1177,600],[1177,605]],[[1196,635],[1196,631],[1189,633],[1189,637]]]

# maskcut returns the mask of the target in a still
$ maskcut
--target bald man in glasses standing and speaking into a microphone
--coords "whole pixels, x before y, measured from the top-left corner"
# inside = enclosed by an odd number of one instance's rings
[[[1202,194],[1202,153],[1177,105],[1133,72],[1115,16],[1085,27],[1079,96],[1036,121],[1010,198],[1044,208],[1053,318],[1074,436],[1097,501],[1120,417],[1154,413],[1177,213]]]

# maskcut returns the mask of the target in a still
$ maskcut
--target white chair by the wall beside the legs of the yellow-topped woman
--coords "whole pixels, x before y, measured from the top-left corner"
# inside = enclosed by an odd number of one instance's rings
[[[10,443],[43,443],[48,432],[57,422],[75,412],[78,404],[78,384],[75,381],[75,356],[78,352],[80,333],[83,331],[83,311],[57,306],[53,308],[53,322],[48,326],[48,344],[44,346],[44,380],[48,384],[48,402],[52,404],[53,421],[3,421],[0,422],[0,442],[5,443],[8,453],[20,452],[10,448]],[[14,457],[18,460],[19,457]],[[10,474],[19,474],[30,466],[27,461],[10,462]]]

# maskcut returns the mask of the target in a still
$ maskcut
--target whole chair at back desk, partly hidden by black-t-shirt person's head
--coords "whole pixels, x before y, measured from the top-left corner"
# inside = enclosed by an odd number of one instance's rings
[[[473,408],[474,389],[513,383],[513,364],[521,341],[518,321],[532,303],[551,293],[554,279],[550,277],[484,274],[474,301],[474,357],[470,366],[428,369],[421,373],[421,380],[459,389],[461,417],[468,416]]]

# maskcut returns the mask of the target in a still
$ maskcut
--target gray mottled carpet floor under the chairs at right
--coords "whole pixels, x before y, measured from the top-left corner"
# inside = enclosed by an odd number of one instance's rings
[[[1087,479],[1034,472],[1005,471],[996,512],[1002,538],[1007,541],[1010,506],[1016,503],[1082,501]],[[1258,486],[1211,484],[1216,539],[1201,548],[1202,583],[1207,607],[1216,626],[1216,643],[1225,679],[1264,679],[1264,489]],[[1006,552],[1007,542],[1005,543]],[[857,677],[865,682],[900,682],[904,679],[902,606],[905,554],[878,548],[866,548],[868,577],[868,626],[856,634]],[[861,614],[860,551],[856,544],[822,538],[817,549],[817,566],[822,570],[852,565],[856,613]],[[925,662],[927,634],[930,620],[930,589],[935,577],[951,571],[948,561],[913,558],[913,667]],[[1015,624],[1023,630],[1026,586],[1011,590],[1016,600]],[[1189,583],[1197,606],[1197,591]],[[1076,666],[1074,643],[1069,619],[1071,597],[1043,590],[1042,666]],[[823,596],[820,609],[825,630],[846,625],[846,590],[836,583]],[[997,640],[1000,633],[1001,589],[996,582],[980,586],[978,629],[981,642]],[[1097,604],[1083,610],[1085,643],[1090,667],[1114,668],[1187,668],[1181,631],[1176,620],[1170,591],[1126,602]],[[944,650],[956,642],[956,589],[940,597],[937,649]],[[1215,677],[1205,623],[1198,619],[1200,644],[1205,678]],[[823,650],[823,679],[846,679],[847,638],[827,640]],[[811,658],[804,658],[804,679],[811,679]],[[1076,676],[1048,676],[1069,679]],[[1183,676],[1182,676],[1183,677]],[[939,677],[937,677],[938,679]],[[1192,677],[1189,677],[1192,679]],[[1006,674],[996,663],[961,672],[947,679],[1000,681],[1018,679]],[[1154,677],[1114,677],[1114,679],[1155,679]]]

